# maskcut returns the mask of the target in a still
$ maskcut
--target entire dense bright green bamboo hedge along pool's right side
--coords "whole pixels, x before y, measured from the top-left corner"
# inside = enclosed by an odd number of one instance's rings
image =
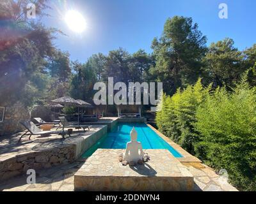
[[[216,170],[225,168],[234,186],[256,190],[256,88],[246,76],[232,92],[198,82],[163,97],[160,131]]]

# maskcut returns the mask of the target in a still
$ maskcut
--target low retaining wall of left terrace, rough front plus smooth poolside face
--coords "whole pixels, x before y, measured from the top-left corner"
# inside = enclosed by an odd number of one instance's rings
[[[42,142],[30,152],[16,154],[8,159],[0,159],[0,181],[26,173],[28,169],[40,170],[60,164],[72,163],[108,133],[107,126],[98,128],[91,135],[72,136],[63,140]],[[35,150],[36,149],[36,150]],[[29,151],[29,150],[28,150]]]

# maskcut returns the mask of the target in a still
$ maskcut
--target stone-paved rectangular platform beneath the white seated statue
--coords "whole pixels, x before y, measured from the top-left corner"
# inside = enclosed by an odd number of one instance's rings
[[[193,175],[165,149],[147,149],[149,161],[124,166],[124,149],[98,149],[74,177],[74,188],[87,191],[192,191]]]

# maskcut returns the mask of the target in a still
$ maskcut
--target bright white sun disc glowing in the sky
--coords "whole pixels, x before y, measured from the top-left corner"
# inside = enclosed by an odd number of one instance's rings
[[[65,15],[65,22],[68,27],[76,33],[83,33],[86,29],[86,21],[83,15],[76,10],[67,11],[67,14]]]

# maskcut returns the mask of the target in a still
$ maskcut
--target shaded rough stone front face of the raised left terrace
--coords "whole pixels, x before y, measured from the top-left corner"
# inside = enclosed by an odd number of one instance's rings
[[[59,164],[72,163],[75,159],[75,145],[17,155],[5,161],[0,161],[0,181],[26,173],[28,169],[51,168]]]

